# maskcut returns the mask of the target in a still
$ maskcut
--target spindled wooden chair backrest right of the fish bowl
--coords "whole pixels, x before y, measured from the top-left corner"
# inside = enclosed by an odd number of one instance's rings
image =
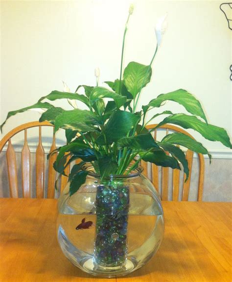
[[[152,124],[146,126],[147,129],[155,128],[157,125]],[[190,135],[186,130],[182,128],[178,128],[176,126],[172,125],[164,125],[161,126],[158,129],[155,129],[154,131],[154,139],[157,139],[157,131],[164,130],[166,135],[169,133],[169,131],[176,131],[176,132],[182,132],[188,135],[189,137],[193,138],[192,135]],[[193,138],[194,139],[194,138]],[[183,190],[182,190],[182,201],[188,201],[188,195],[189,195],[189,187],[190,187],[190,181],[191,181],[191,172],[192,172],[192,161],[193,161],[193,152],[190,150],[186,151],[186,159],[188,161],[188,168],[189,168],[189,177],[187,181],[185,182],[185,178],[183,179]],[[205,162],[204,162],[204,156],[202,154],[198,154],[199,159],[199,174],[198,174],[198,194],[197,194],[197,201],[202,201],[203,196],[203,186],[204,186],[204,172],[205,172]],[[149,165],[142,161],[141,163],[143,167],[143,174],[145,176],[148,176],[148,170]],[[153,185],[157,189],[158,192],[160,192],[161,199],[163,201],[168,200],[168,179],[169,179],[169,169],[168,167],[162,167],[161,174],[159,175],[159,167],[155,164],[151,164],[151,173],[150,173],[150,179],[153,182]],[[173,180],[172,180],[172,200],[173,201],[179,201],[179,194],[180,194],[180,171],[178,169],[173,169]],[[161,181],[159,181],[159,177],[161,177]],[[161,187],[159,187],[159,183],[161,182]]]

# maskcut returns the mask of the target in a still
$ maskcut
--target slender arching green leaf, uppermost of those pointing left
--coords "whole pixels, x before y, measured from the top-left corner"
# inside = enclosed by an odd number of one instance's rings
[[[60,92],[60,91],[52,91],[47,96],[41,97],[38,102],[41,102],[44,99],[48,99],[50,101],[55,101],[57,99],[70,99],[70,100],[78,100],[85,103],[87,106],[90,105],[89,100],[84,95],[70,93],[70,92]]]

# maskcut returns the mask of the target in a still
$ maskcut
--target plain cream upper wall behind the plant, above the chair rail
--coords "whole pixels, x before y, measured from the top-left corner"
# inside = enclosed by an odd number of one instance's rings
[[[79,84],[94,85],[95,67],[100,68],[101,82],[118,78],[128,2],[1,1],[0,123],[8,111],[33,104],[52,90],[62,90],[62,80],[73,91]],[[139,107],[161,93],[185,88],[203,103],[209,123],[226,128],[231,134],[232,31],[219,9],[220,3],[135,1],[124,66],[132,60],[150,62],[156,44],[156,20],[168,12],[167,31],[153,65],[152,81],[143,91]],[[55,104],[69,108],[66,102]],[[82,108],[81,103],[79,106]],[[185,112],[172,102],[162,110],[167,108]],[[7,122],[3,135],[38,118],[36,112],[18,114]],[[220,143],[192,133],[214,157],[232,157]],[[29,134],[32,145],[36,143],[33,136]],[[60,143],[62,139],[60,133]],[[22,140],[21,136],[15,142]],[[223,164],[231,168],[231,162]],[[229,179],[230,170],[227,173],[225,178]]]

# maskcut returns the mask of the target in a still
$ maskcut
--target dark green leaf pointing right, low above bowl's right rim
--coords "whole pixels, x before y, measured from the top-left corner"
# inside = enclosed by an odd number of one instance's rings
[[[156,165],[164,166],[164,167],[171,167],[173,169],[181,169],[178,161],[176,158],[166,155],[162,150],[149,152],[149,153],[139,153],[144,161],[152,162]]]

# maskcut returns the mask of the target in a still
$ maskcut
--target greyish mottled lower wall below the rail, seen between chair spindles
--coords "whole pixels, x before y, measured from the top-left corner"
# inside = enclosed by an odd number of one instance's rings
[[[22,197],[22,187],[21,187],[22,172],[20,169],[21,154],[16,153],[16,158],[17,158],[17,165],[19,168],[18,169],[19,194],[20,197]],[[194,158],[189,201],[196,201],[196,197],[197,197],[197,181],[198,181],[197,162],[198,162],[197,158]],[[32,197],[35,197],[35,154],[31,154],[31,164],[32,164],[32,176],[31,176]],[[181,179],[183,179],[183,174],[181,175]],[[47,180],[47,170],[46,170],[46,180]],[[170,189],[171,185],[172,185],[172,174],[170,170],[169,200],[171,200],[172,198],[172,191]],[[45,191],[45,195],[46,195],[46,191]],[[5,152],[2,152],[0,154],[0,197],[9,197]],[[204,184],[203,201],[232,202],[232,159],[218,159],[218,158],[212,159],[211,165],[209,165],[209,159],[205,159],[205,184]]]

